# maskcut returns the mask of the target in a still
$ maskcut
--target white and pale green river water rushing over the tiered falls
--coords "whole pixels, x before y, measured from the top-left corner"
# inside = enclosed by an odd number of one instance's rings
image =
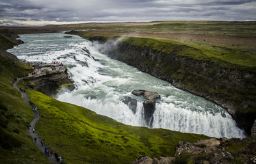
[[[153,113],[153,128],[198,133],[210,137],[246,137],[225,109],[173,87],[137,68],[110,59],[99,53],[99,44],[79,36],[64,38],[64,33],[20,35],[25,44],[8,50],[27,61],[61,61],[68,66],[68,74],[76,89],[62,92],[58,100],[70,102],[107,115],[118,122],[133,126],[146,126],[143,98],[131,94],[133,90],[157,92],[161,98]],[[90,55],[83,49],[88,49]],[[130,96],[138,100],[136,113],[120,100]]]

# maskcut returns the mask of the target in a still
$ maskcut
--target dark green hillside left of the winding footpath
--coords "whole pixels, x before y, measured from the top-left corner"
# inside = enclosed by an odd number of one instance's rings
[[[16,77],[29,71],[29,66],[0,49],[0,163],[49,163],[26,131],[34,117],[31,107],[12,87]]]

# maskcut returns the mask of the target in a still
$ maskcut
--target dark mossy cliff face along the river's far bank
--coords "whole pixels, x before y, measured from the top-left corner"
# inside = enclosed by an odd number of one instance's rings
[[[238,126],[251,133],[256,118],[255,72],[223,68],[209,60],[177,55],[180,49],[164,53],[125,41],[108,46],[111,48],[103,53],[216,102],[233,115]]]

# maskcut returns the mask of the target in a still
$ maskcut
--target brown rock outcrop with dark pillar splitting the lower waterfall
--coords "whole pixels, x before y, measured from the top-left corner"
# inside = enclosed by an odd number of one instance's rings
[[[132,94],[146,98],[143,102],[144,120],[146,125],[151,127],[153,123],[153,113],[155,112],[155,99],[160,98],[160,95],[156,92],[146,90],[133,90]]]

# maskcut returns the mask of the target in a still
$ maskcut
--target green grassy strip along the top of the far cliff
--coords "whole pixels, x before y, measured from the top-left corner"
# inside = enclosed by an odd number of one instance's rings
[[[188,45],[172,40],[151,38],[126,37],[123,41],[135,46],[147,46],[163,53],[175,53],[175,55],[183,55],[192,59],[212,61],[217,66],[225,68],[256,71],[256,55],[248,51],[217,46]]]

